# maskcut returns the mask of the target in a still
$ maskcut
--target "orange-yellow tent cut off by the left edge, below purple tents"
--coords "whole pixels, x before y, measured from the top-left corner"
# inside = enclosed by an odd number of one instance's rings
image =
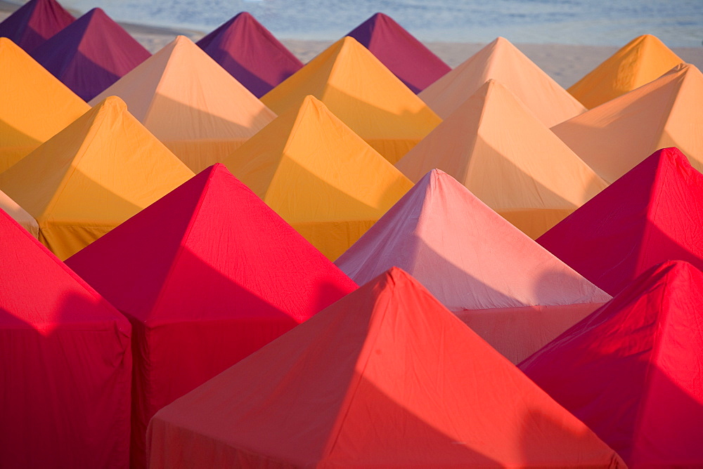
[[[90,109],[19,46],[0,37],[0,172]]]

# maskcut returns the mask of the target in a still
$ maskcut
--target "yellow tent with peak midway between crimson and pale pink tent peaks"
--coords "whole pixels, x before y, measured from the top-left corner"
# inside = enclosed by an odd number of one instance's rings
[[[332,260],[413,186],[312,96],[223,163]]]

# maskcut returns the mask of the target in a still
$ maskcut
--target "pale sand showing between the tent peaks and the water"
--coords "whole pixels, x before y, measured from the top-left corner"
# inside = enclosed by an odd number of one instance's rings
[[[0,21],[11,15],[19,6],[9,1],[0,0]],[[81,11],[71,11],[78,17]],[[233,15],[236,12],[233,12]],[[177,35],[182,34],[193,41],[198,41],[207,32],[188,29],[169,29],[148,25],[134,25],[120,22],[120,25],[139,41],[150,52],[154,53],[172,41]],[[350,28],[354,25],[349,25]],[[510,32],[503,34],[510,39]],[[332,44],[330,41],[302,41],[298,39],[279,38],[302,62],[307,62],[315,55]],[[460,43],[460,42],[427,42],[425,45],[444,60],[449,66],[456,67],[471,55],[479,51],[485,44]],[[574,46],[567,44],[515,44],[531,60],[542,68],[550,77],[553,77],[565,88],[576,83],[583,75],[595,68],[600,62],[607,59],[619,46]],[[621,44],[624,46],[624,44]],[[672,48],[672,50],[686,62],[703,69],[703,47],[698,48]]]

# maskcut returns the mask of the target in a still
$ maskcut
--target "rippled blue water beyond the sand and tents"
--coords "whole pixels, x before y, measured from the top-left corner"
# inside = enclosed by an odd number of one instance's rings
[[[703,0],[64,0],[100,6],[118,21],[209,32],[249,11],[280,38],[342,37],[377,11],[423,41],[621,46],[654,34],[669,47],[699,47]]]

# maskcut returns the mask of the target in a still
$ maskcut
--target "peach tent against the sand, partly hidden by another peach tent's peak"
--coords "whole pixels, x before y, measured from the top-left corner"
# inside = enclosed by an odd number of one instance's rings
[[[491,78],[510,88],[548,127],[586,111],[576,98],[503,37],[427,86],[419,96],[445,119]]]

